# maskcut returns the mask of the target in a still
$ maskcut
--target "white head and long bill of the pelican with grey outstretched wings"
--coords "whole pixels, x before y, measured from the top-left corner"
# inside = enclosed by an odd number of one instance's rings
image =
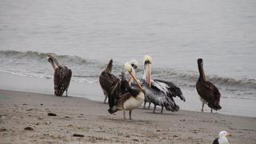
[[[152,58],[149,55],[144,56],[144,79],[146,83],[151,87],[151,63]]]

